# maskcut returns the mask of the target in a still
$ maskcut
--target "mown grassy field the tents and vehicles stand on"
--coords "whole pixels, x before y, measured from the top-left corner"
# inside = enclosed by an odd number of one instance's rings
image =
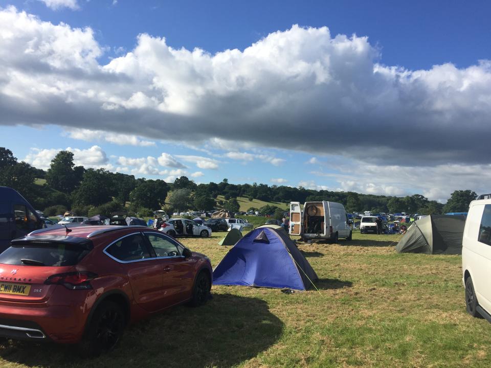
[[[225,233],[184,239],[213,266]],[[2,367],[486,367],[491,325],[465,313],[460,256],[399,255],[398,235],[299,243],[319,291],[214,286],[203,307],[130,326],[97,360],[74,348],[10,343]]]

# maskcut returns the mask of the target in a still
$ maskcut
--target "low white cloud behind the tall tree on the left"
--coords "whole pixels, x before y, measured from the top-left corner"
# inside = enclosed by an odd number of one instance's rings
[[[51,160],[56,156],[61,148],[52,149],[38,149],[31,148],[29,154],[24,158],[24,161],[31,164],[35,168],[48,170],[51,165]],[[112,168],[108,163],[106,153],[99,146],[92,146],[88,149],[79,148],[65,148],[65,151],[73,152],[73,162],[76,166],[83,166],[84,168],[99,169],[104,167],[106,169]]]

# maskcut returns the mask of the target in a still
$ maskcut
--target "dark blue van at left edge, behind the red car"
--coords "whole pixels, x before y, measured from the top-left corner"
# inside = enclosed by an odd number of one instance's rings
[[[12,239],[42,227],[41,218],[23,196],[12,188],[0,187],[0,252]]]

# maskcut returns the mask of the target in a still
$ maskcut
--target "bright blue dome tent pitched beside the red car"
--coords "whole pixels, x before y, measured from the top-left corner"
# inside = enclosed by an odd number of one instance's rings
[[[213,271],[214,285],[306,290],[317,274],[284,233],[256,228],[240,239]]]

